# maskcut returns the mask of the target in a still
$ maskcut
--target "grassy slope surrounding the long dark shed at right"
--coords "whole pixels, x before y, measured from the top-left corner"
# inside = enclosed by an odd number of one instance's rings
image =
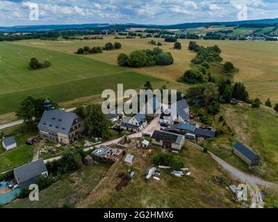
[[[220,135],[211,142],[206,141],[208,149],[223,160],[242,169],[250,171],[267,180],[278,180],[278,115],[269,108],[250,108],[250,105],[222,105],[221,112],[216,119],[216,126],[222,128],[218,122],[224,117],[227,126],[234,133],[232,135],[224,126],[224,135]],[[247,164],[231,153],[231,147],[237,142],[249,146],[261,158],[259,167],[249,169]]]

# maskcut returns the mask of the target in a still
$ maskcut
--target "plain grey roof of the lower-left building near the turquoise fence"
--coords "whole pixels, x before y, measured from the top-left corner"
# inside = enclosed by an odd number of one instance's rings
[[[15,178],[19,183],[31,180],[32,178],[40,176],[42,173],[47,171],[44,161],[42,159],[30,162],[23,165],[22,167],[17,167],[13,170]]]

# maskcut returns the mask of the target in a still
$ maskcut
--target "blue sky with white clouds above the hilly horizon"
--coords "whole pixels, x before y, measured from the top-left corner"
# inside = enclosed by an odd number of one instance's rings
[[[278,17],[278,0],[0,0],[0,26],[181,24]]]

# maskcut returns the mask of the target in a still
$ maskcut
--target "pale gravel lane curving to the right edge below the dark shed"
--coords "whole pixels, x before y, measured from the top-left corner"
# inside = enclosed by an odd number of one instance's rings
[[[192,142],[188,142],[190,145],[195,146],[196,148],[202,149],[202,146],[199,146],[197,144],[194,144]],[[259,185],[259,186],[266,186],[266,187],[275,187],[277,186],[274,182],[268,182],[266,180],[263,180],[259,177],[256,176],[251,176],[248,173],[244,173],[243,171],[239,171],[235,167],[232,167],[230,164],[225,162],[224,160],[220,159],[217,155],[214,155],[213,153],[209,152],[208,153],[213,157],[213,160],[218,162],[222,166],[222,168],[225,171],[228,171],[232,176],[235,178],[238,178],[238,180],[242,182],[247,182],[250,183],[251,185]]]

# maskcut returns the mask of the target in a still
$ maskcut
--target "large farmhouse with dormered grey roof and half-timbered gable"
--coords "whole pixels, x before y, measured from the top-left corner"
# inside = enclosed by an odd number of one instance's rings
[[[85,129],[85,122],[77,114],[59,110],[45,110],[38,123],[40,137],[61,144],[72,144]]]

